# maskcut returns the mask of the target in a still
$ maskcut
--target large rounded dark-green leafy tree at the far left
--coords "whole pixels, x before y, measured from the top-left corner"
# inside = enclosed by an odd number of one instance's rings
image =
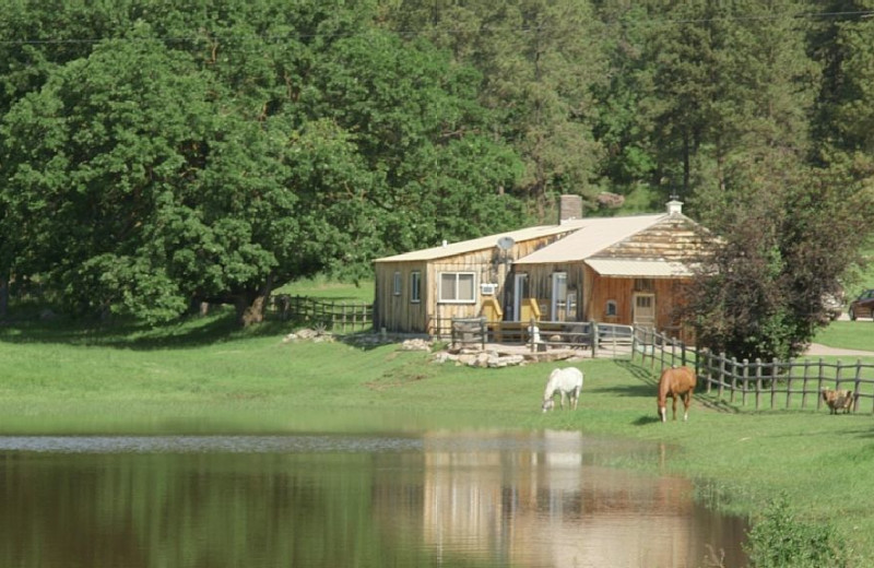
[[[292,246],[276,235],[299,234],[275,159],[287,139],[240,119],[221,92],[144,28],[14,105],[2,154],[11,272],[42,275],[80,312],[160,320],[203,296],[243,317]]]

